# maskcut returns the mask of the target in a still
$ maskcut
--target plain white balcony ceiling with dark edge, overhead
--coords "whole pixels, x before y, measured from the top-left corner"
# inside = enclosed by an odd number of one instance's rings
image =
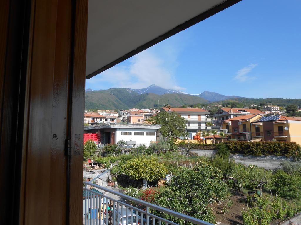
[[[240,0],[89,0],[86,77]]]

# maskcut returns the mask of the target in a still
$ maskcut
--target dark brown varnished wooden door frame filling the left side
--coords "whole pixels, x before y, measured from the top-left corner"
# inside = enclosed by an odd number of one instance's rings
[[[82,223],[87,21],[88,0],[5,0],[0,8],[6,224]]]

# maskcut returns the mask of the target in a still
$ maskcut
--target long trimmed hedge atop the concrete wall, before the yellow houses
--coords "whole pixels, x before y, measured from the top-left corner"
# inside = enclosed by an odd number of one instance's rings
[[[225,142],[232,154],[243,155],[276,155],[301,159],[301,147],[296,142]],[[189,144],[191,149],[216,150],[219,144]],[[179,148],[187,148],[188,143],[178,143]]]

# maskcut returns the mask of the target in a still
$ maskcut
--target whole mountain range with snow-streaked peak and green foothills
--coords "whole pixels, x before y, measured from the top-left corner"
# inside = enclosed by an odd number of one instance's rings
[[[165,104],[180,107],[185,104],[203,104],[231,98],[244,97],[221,95],[209,91],[201,94],[187,94],[153,84],[141,89],[110,88],[95,91],[89,88],[85,91],[85,107],[87,109],[158,108]]]

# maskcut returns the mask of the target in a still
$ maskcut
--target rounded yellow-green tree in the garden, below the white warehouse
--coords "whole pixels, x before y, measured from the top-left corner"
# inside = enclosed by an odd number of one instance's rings
[[[135,180],[145,179],[147,181],[155,181],[163,178],[167,173],[163,164],[159,164],[157,158],[146,157],[133,158],[123,165],[125,174]]]

